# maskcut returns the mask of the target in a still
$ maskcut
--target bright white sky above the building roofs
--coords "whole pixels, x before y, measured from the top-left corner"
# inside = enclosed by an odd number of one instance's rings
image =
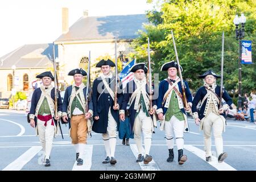
[[[89,16],[144,14],[146,0],[1,0],[0,57],[24,44],[52,43],[61,35],[61,8],[69,9],[69,27],[84,10]]]

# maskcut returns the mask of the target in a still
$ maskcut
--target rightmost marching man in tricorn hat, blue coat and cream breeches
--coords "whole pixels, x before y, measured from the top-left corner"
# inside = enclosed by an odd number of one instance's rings
[[[226,104],[219,109],[221,88],[216,85],[216,78],[220,78],[220,76],[209,70],[199,78],[204,79],[204,86],[197,90],[193,98],[193,118],[195,119],[196,125],[200,124],[200,130],[204,131],[206,161],[210,162],[212,160],[211,134],[213,130],[218,162],[221,163],[228,156],[226,152],[223,152],[222,132],[225,131],[225,110],[232,105],[232,98],[225,91],[222,98],[226,101]],[[198,113],[196,106],[199,102],[201,102],[201,108]]]

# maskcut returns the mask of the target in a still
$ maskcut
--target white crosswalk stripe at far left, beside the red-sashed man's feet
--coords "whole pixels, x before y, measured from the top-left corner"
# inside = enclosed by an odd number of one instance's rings
[[[20,171],[40,150],[42,150],[41,146],[31,147],[24,154],[20,155],[18,159],[6,166],[3,171]]]

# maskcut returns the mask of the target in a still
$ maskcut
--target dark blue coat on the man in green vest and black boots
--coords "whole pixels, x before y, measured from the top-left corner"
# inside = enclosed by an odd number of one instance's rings
[[[188,83],[187,83],[187,81],[183,81],[183,82],[185,84],[185,94],[186,94],[187,100],[188,100],[188,102],[192,103],[192,95],[191,95],[191,92],[189,90]],[[181,88],[181,82],[179,81],[177,83],[177,85],[179,86],[179,92],[182,94],[183,92],[182,92],[182,88]],[[166,112],[168,110],[168,108],[164,107],[166,102],[164,102],[164,104],[162,105],[164,94],[166,94],[168,89],[169,89],[168,81],[166,81],[166,80],[161,81],[160,84],[159,84],[159,96],[158,96],[158,100],[157,100],[157,106],[158,106],[158,109],[161,109],[161,108],[163,109],[163,115],[166,114]],[[184,114],[186,114],[184,108],[180,109],[180,110]]]

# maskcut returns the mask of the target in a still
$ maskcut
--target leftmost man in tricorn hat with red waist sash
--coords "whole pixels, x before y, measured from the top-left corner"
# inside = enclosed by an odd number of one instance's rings
[[[42,86],[35,89],[30,107],[30,125],[35,127],[36,135],[39,135],[42,143],[44,156],[44,166],[51,166],[50,154],[52,150],[52,140],[57,134],[57,120],[61,117],[61,98],[57,98],[57,115],[55,115],[55,89],[51,85],[54,77],[51,72],[43,72],[36,78],[42,79]],[[60,96],[60,93],[59,93]]]

